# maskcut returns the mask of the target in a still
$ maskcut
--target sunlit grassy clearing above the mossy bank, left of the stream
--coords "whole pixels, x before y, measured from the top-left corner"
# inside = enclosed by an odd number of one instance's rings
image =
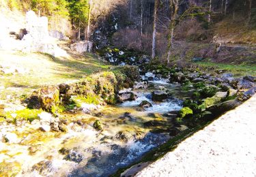
[[[68,58],[55,58],[48,54],[22,52],[0,52],[0,65],[23,70],[16,74],[0,75],[0,99],[7,95],[20,97],[44,85],[57,85],[63,82],[77,82],[89,74],[106,71],[110,65],[100,61],[94,54],[70,55]]]

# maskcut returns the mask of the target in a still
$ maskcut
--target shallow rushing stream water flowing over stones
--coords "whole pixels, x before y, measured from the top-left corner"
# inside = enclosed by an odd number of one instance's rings
[[[12,160],[23,164],[23,176],[109,176],[137,161],[145,152],[172,138],[165,130],[175,125],[167,113],[180,110],[181,99],[190,96],[180,85],[169,84],[168,80],[156,78],[152,73],[142,79],[148,77],[153,77],[150,88],[135,90],[137,99],[134,101],[102,106],[91,114],[66,113],[71,119],[81,120],[70,123],[66,134],[42,134],[32,127],[23,129],[23,133],[16,130],[19,137],[27,138],[18,145],[5,145],[3,148],[8,149],[5,155],[12,154]],[[165,102],[152,101],[152,91],[163,88],[169,89],[175,97]],[[152,103],[152,107],[140,108],[144,100]],[[93,128],[95,120],[100,120],[104,131]],[[157,124],[150,124],[152,122]],[[39,149],[34,155],[28,154],[31,146]]]

